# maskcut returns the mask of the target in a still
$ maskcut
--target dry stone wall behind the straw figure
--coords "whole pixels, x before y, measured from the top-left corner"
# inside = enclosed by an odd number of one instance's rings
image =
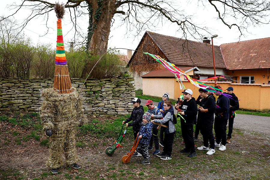
[[[87,80],[71,78],[72,86],[82,88],[84,112],[93,115],[126,115],[132,112],[134,79]],[[1,111],[39,111],[43,88],[53,87],[53,79],[0,79]]]

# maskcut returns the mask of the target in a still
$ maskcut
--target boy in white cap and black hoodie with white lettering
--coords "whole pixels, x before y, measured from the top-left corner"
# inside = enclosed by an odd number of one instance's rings
[[[197,104],[195,98],[192,97],[193,92],[191,89],[186,89],[183,92],[185,100],[182,105],[179,107],[180,110],[183,110],[180,116],[182,136],[185,142],[185,148],[182,149],[181,153],[189,153],[188,157],[195,157],[196,151],[194,147],[193,139],[193,123],[195,116],[197,115]]]

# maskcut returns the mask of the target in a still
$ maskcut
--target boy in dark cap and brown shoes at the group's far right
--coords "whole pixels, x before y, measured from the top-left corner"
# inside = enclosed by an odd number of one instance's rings
[[[233,93],[233,87],[230,86],[228,89],[226,89],[228,92],[227,94],[232,96],[232,99],[230,98],[230,110],[229,110],[229,131],[227,134],[227,143],[231,143],[232,138],[232,127],[233,127],[233,120],[235,118],[235,111],[239,110],[239,102],[237,96]]]

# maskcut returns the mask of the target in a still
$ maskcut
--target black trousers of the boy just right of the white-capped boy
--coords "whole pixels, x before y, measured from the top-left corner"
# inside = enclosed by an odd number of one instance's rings
[[[213,122],[200,122],[200,131],[203,139],[203,146],[208,147],[208,141],[210,143],[210,148],[215,149],[215,140],[213,135]]]

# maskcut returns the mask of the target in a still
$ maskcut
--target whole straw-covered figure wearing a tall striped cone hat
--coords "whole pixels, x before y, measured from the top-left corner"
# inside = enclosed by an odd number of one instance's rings
[[[77,127],[83,120],[82,98],[76,88],[71,87],[71,81],[65,57],[64,42],[62,36],[61,19],[64,15],[64,6],[55,5],[57,21],[57,45],[55,57],[55,76],[53,88],[46,88],[41,92],[44,98],[40,108],[40,116],[44,121],[44,131],[50,137],[51,146],[47,166],[56,174],[62,165],[62,153],[67,164],[75,169],[76,164],[75,137]]]

